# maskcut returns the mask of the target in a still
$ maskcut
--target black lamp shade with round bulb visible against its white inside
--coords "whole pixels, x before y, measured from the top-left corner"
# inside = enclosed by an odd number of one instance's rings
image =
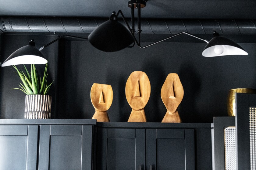
[[[227,55],[248,55],[248,53],[230,39],[214,36],[205,46],[202,55],[205,57],[215,57]]]

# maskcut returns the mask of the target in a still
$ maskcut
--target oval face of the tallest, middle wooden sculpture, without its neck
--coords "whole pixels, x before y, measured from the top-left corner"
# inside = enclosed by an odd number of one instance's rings
[[[126,99],[133,110],[143,109],[150,97],[150,82],[146,73],[134,71],[129,76],[126,86]]]

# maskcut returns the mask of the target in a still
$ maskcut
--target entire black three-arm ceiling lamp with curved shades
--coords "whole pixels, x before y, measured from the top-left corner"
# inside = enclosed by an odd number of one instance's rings
[[[35,47],[34,40],[31,40],[27,46],[21,47],[17,49],[14,53],[12,53],[2,64],[2,66],[10,66],[10,65],[18,65],[18,64],[45,64],[47,60],[44,58],[43,54],[40,52],[41,49],[44,47],[49,46],[53,42],[61,39],[64,36],[82,39],[82,40],[89,40],[89,42],[97,49],[105,52],[114,52],[124,49],[126,47],[133,47],[135,44],[140,48],[147,48],[149,46],[155,45],[159,42],[165,41],[167,39],[173,38],[175,36],[179,36],[181,34],[187,34],[194,38],[200,39],[202,41],[207,42],[207,45],[202,52],[202,55],[205,57],[213,57],[213,56],[226,56],[226,55],[248,55],[244,49],[239,46],[237,43],[224,38],[220,37],[219,34],[215,31],[213,33],[213,38],[210,41],[206,39],[202,39],[200,37],[194,36],[188,32],[180,32],[176,35],[167,37],[162,39],[158,42],[154,42],[147,46],[140,46],[140,9],[146,6],[146,1],[144,0],[130,0],[128,2],[128,6],[131,8],[131,22],[132,28],[128,25],[123,12],[119,10],[113,12],[110,16],[109,20],[102,23],[98,28],[96,28],[91,34],[88,36],[88,39],[75,37],[75,36],[68,36],[63,35],[59,38],[53,40],[52,42],[48,43],[47,45],[37,49]],[[135,38],[134,33],[134,9],[137,9],[137,25],[138,25],[138,40]],[[118,15],[121,15],[127,28],[118,22]]]

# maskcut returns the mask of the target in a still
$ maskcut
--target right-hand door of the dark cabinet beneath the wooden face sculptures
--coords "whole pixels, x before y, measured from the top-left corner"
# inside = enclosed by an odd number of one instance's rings
[[[194,170],[193,129],[147,129],[147,170]]]

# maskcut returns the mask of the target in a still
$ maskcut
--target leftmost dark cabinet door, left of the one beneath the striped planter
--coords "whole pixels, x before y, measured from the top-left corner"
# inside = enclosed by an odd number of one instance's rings
[[[36,125],[0,125],[0,170],[37,169]]]

